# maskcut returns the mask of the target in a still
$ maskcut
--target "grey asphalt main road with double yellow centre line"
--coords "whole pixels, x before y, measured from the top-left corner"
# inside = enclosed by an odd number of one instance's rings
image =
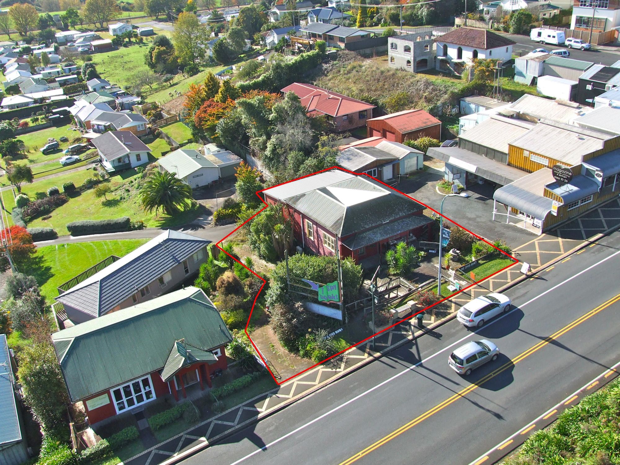
[[[185,463],[339,464],[407,424],[358,463],[469,463],[618,361],[620,304],[578,319],[618,293],[619,238],[508,291],[516,308],[475,334],[450,322]],[[458,376],[449,353],[483,337],[502,355]]]

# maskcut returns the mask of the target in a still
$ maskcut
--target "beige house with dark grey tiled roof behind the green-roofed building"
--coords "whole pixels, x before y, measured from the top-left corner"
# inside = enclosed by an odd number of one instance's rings
[[[77,277],[78,282],[56,301],[74,323],[144,303],[197,272],[206,260],[208,244],[206,239],[168,229],[90,277],[81,281]]]

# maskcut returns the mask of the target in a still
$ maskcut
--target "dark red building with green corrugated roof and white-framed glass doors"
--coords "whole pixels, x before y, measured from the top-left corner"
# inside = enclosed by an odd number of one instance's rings
[[[157,397],[187,397],[228,368],[232,341],[210,299],[193,286],[51,335],[71,402],[89,422],[131,412]]]

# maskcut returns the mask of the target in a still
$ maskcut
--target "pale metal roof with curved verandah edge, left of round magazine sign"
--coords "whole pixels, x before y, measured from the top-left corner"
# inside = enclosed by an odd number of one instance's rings
[[[544,219],[547,213],[551,211],[553,204],[551,198],[540,195],[549,175],[551,175],[551,170],[548,168],[535,171],[511,184],[498,188],[493,194],[493,198],[504,205],[525,211],[534,218]]]

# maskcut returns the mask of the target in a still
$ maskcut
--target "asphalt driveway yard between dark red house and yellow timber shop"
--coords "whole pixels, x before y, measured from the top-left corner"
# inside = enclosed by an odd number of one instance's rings
[[[444,196],[437,193],[435,188],[437,182],[443,178],[443,163],[425,161],[424,164],[427,168],[425,172],[401,180],[396,188],[439,211]],[[443,215],[491,242],[503,239],[513,249],[534,239],[536,236],[525,229],[492,220],[494,190],[490,184],[476,184],[464,191],[471,197],[446,199],[443,203]],[[429,215],[430,213],[432,212],[427,212]]]

